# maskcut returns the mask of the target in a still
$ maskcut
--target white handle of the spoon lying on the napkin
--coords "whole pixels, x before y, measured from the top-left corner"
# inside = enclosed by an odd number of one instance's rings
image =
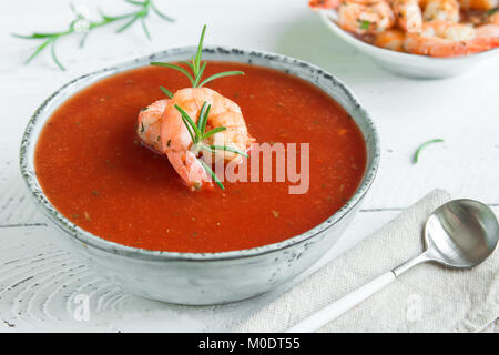
[[[338,301],[325,306],[317,313],[314,313],[309,317],[305,318],[302,323],[298,323],[294,327],[286,331],[286,333],[308,333],[314,332],[326,325],[330,321],[336,320],[338,316],[353,308],[364,300],[368,298],[390,282],[395,280],[395,273],[388,271],[371,282],[360,286],[356,291],[347,294]]]

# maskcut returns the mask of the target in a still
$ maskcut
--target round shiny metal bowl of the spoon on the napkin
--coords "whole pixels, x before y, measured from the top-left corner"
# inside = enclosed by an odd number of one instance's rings
[[[473,267],[497,247],[499,224],[493,212],[473,200],[454,200],[438,207],[425,226],[427,253],[451,267]]]

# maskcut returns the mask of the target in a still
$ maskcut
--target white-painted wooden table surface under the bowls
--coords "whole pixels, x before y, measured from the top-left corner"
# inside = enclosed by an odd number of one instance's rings
[[[96,17],[130,9],[120,0],[73,1]],[[478,199],[499,213],[499,62],[480,64],[455,79],[417,81],[394,77],[338,41],[305,0],[156,0],[176,22],[147,20],[152,41],[139,24],[116,36],[118,24],[58,44],[68,67],[49,53],[22,62],[35,42],[9,32],[60,30],[72,14],[63,1],[11,1],[0,11],[0,331],[223,331],[278,292],[226,306],[186,307],[129,295],[89,272],[61,248],[29,201],[18,166],[28,119],[55,89],[83,73],[170,47],[195,44],[203,23],[206,44],[261,49],[296,57],[344,80],[371,112],[381,138],[376,182],[352,227],[320,264],[355,245],[435,187],[455,197]],[[422,142],[445,139],[411,154]],[[74,318],[75,295],[90,298],[90,320]],[[78,318],[78,317],[77,317]]]

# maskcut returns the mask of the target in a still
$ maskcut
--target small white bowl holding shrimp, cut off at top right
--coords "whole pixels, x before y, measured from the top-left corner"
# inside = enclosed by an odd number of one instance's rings
[[[363,42],[344,31],[336,24],[333,17],[334,11],[320,11],[319,16],[329,30],[339,39],[373,58],[375,63],[383,69],[403,77],[418,79],[455,77],[470,70],[482,60],[499,58],[499,49],[456,58],[431,58],[391,51]]]

